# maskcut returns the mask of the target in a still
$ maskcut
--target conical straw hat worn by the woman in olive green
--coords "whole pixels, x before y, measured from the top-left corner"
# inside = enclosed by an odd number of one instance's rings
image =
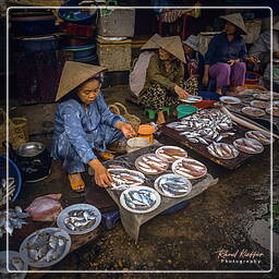
[[[183,46],[179,36],[160,37],[155,39],[155,43],[182,62],[186,62]]]

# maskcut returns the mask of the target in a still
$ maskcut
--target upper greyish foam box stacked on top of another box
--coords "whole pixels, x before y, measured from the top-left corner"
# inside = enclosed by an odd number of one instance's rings
[[[107,37],[133,37],[135,9],[101,10],[98,19],[98,34]]]

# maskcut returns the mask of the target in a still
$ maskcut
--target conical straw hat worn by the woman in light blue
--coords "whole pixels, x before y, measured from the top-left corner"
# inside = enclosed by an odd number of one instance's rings
[[[66,61],[60,77],[56,101],[60,100],[86,80],[105,70],[106,68],[99,65]]]

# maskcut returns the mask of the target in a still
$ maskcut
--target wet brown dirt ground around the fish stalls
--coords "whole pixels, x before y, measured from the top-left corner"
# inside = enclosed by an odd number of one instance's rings
[[[108,104],[125,104],[128,89],[114,86],[105,89]],[[11,101],[10,107],[14,104]],[[142,109],[126,104],[130,113],[138,116],[143,122],[147,119]],[[11,113],[26,116],[29,120],[32,140],[49,143],[53,121],[54,105],[35,105],[17,107]],[[41,133],[45,134],[41,134]],[[37,134],[37,135],[36,135]],[[161,143],[177,144],[163,136]],[[274,145],[274,202],[278,203],[279,145]],[[270,148],[247,161],[234,171],[228,171],[195,153],[190,155],[204,163],[218,184],[193,198],[190,204],[171,215],[158,216],[142,226],[137,244],[124,232],[121,222],[111,231],[101,229],[101,235],[90,243],[71,253],[57,268],[60,270],[258,270],[259,274],[61,274],[61,278],[279,278],[278,255],[274,255],[272,274],[263,274],[270,269],[270,252],[250,238],[250,228],[255,220],[267,213],[270,197]],[[20,198],[25,202],[31,195],[63,193],[64,198],[78,198],[70,190],[65,173],[57,162],[52,165],[51,175],[36,184],[24,185]],[[85,174],[87,177],[87,174]],[[89,178],[87,178],[89,179]],[[257,263],[225,263],[218,258],[218,251],[229,253],[263,253]],[[245,259],[247,259],[247,255]],[[227,258],[229,259],[229,258]],[[240,259],[240,258],[238,258]],[[244,259],[244,258],[243,258]],[[276,270],[277,269],[277,270]],[[57,278],[57,274],[44,278]]]

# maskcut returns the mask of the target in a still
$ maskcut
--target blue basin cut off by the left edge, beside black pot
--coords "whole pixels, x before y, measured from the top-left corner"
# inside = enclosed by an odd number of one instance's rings
[[[19,167],[11,160],[8,159],[9,161],[9,177],[14,178],[15,180],[15,192],[12,197],[12,202],[14,202],[21,190],[22,190],[22,174],[19,169]],[[0,179],[7,178],[7,157],[0,155]]]

